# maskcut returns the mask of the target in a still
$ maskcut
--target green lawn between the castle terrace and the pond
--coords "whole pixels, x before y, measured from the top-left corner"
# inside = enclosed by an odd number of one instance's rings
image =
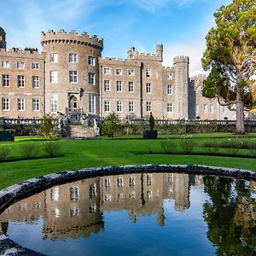
[[[251,140],[256,134],[237,137],[231,133],[195,134],[191,140],[196,143],[195,152],[204,152],[201,145],[207,141],[222,140],[229,137],[232,140]],[[39,177],[51,172],[71,169],[81,169],[92,166],[118,166],[131,164],[193,164],[207,166],[225,166],[248,169],[256,172],[256,159],[237,157],[222,157],[210,155],[185,154],[145,154],[163,152],[160,140],[143,140],[140,136],[116,137],[109,139],[101,137],[96,140],[61,140],[61,157],[47,158],[44,150],[34,160],[20,158],[20,146],[24,143],[37,143],[44,146],[42,137],[15,137],[14,143],[3,142],[2,145],[11,148],[9,159],[0,163],[0,189],[31,177]],[[181,136],[168,136],[178,143]],[[225,150],[221,148],[221,150]],[[182,152],[177,148],[177,153]],[[249,154],[240,149],[238,154]]]

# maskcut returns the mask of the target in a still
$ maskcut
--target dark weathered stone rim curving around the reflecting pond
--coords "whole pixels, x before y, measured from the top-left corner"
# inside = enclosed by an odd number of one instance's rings
[[[221,175],[225,177],[236,177],[250,180],[256,180],[256,172],[225,168],[218,166],[195,166],[195,165],[132,165],[132,166],[103,166],[103,167],[91,167],[81,170],[70,170],[64,172],[56,172],[47,174],[41,177],[34,177],[24,182],[16,183],[6,189],[0,190],[0,213],[10,204],[17,201],[22,196],[32,195],[37,193],[38,190],[48,189],[58,183],[64,183],[72,181],[74,179],[131,173],[131,172],[186,172],[189,174],[208,174],[208,175]],[[34,252],[30,249],[20,247],[19,244],[9,239],[8,236],[0,236],[2,246],[0,246],[0,253],[4,255],[42,255],[44,254]]]

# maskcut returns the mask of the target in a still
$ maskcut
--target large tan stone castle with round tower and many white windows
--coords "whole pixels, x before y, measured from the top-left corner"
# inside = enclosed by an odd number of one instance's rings
[[[235,119],[216,100],[201,96],[189,79],[189,57],[177,56],[163,67],[163,45],[155,54],[134,47],[125,60],[102,57],[103,40],[86,32],[42,32],[38,49],[6,49],[0,27],[0,117],[41,118],[65,114],[79,120],[84,114],[120,118]]]

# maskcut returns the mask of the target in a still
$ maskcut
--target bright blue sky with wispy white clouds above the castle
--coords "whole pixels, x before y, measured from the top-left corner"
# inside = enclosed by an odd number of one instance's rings
[[[189,56],[189,76],[203,73],[201,57],[213,13],[231,0],[0,0],[0,26],[7,48],[42,50],[41,32],[88,32],[103,38],[102,56],[126,58],[134,46],[155,53],[164,45],[163,64]]]

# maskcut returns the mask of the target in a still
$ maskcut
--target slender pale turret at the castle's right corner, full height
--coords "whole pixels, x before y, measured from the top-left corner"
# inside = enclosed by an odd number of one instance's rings
[[[189,119],[189,57],[177,56],[173,59],[174,96],[176,100],[175,119]]]

